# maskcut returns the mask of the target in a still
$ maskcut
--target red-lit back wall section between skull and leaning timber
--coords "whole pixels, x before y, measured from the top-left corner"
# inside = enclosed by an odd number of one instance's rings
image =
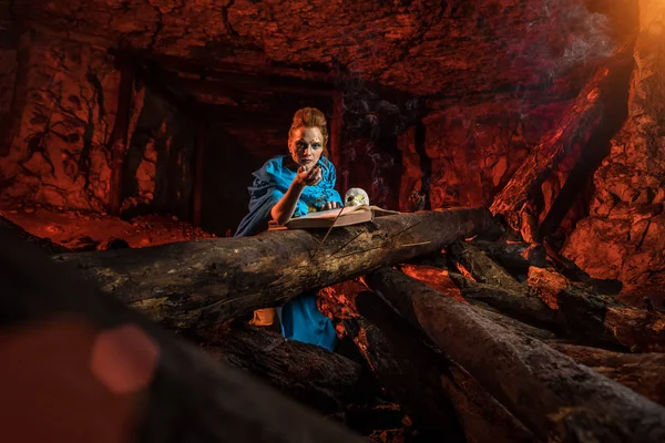
[[[431,161],[432,208],[481,206],[510,179],[543,134],[565,110],[565,102],[523,102],[454,106],[424,119],[424,151]],[[400,207],[412,206],[424,178],[410,133],[402,147]],[[407,202],[407,203],[405,203]],[[418,206],[418,205],[416,205]]]

